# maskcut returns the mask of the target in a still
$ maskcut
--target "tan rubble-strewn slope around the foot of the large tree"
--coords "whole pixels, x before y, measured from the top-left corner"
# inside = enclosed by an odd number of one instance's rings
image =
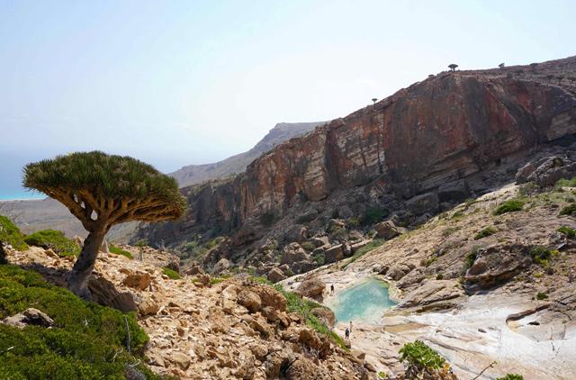
[[[123,246],[134,257],[138,249]],[[51,250],[6,249],[12,264],[64,285],[74,258]],[[149,335],[144,356],[159,375],[182,379],[368,378],[362,357],[338,347],[287,310],[286,299],[247,277],[199,274],[172,279],[174,257],[146,249],[144,260],[101,252],[90,290],[94,300],[139,313]],[[374,376],[374,374],[372,374]]]

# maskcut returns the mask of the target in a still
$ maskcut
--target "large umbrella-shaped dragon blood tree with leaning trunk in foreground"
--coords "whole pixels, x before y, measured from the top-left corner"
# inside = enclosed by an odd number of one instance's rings
[[[186,207],[174,178],[138,159],[100,151],[28,164],[23,185],[64,204],[88,231],[67,278],[68,288],[88,299],[88,279],[104,236],[114,224],[175,220]]]

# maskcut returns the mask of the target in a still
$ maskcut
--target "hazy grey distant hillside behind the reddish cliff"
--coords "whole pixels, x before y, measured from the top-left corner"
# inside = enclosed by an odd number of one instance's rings
[[[314,128],[326,122],[280,122],[260,140],[254,148],[223,159],[213,164],[188,165],[170,173],[180,186],[200,184],[202,182],[226,177],[232,174],[242,173],[247,165],[260,157],[262,154],[273,149],[276,145],[290,140],[293,137],[312,131]]]

